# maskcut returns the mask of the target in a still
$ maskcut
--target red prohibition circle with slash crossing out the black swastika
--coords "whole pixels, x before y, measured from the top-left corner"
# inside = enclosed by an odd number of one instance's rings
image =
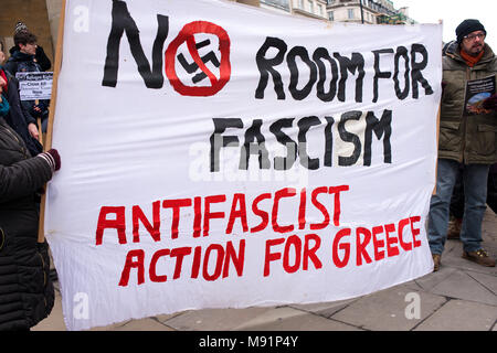
[[[221,52],[220,60],[220,77],[215,75],[205,66],[200,58],[199,52],[195,47],[194,34],[208,33],[214,34],[219,38],[219,51]],[[193,61],[199,65],[200,69],[209,77],[211,86],[187,86],[179,78],[176,73],[176,54],[181,44],[187,43],[188,50]],[[178,36],[169,44],[166,51],[166,75],[171,83],[171,86],[182,96],[213,96],[220,92],[224,85],[230,81],[231,64],[230,64],[230,38],[221,26],[207,22],[194,21],[186,24],[179,32]]]

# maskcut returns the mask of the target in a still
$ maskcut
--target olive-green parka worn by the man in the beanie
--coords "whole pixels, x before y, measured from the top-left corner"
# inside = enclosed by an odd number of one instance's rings
[[[464,115],[466,83],[497,74],[497,56],[485,44],[482,60],[467,66],[456,42],[447,45],[443,56],[443,82],[440,117],[438,158],[465,164],[497,162],[497,114]]]

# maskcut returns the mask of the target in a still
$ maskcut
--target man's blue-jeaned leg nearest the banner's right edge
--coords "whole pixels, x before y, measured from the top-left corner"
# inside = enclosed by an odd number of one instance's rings
[[[430,202],[429,243],[434,255],[442,255],[447,235],[451,196],[459,172],[459,163],[438,159],[436,194]]]

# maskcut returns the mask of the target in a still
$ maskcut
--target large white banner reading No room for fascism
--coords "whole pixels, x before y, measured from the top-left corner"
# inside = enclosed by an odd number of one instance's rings
[[[70,330],[430,272],[442,28],[68,0],[44,232]]]

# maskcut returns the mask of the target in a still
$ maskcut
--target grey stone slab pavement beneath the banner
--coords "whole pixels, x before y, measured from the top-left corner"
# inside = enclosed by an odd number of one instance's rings
[[[483,238],[484,248],[497,256],[497,215],[490,210]],[[461,242],[447,240],[437,272],[350,300],[190,310],[91,331],[497,331],[497,267],[461,255]],[[59,291],[51,315],[32,330],[65,330]]]

